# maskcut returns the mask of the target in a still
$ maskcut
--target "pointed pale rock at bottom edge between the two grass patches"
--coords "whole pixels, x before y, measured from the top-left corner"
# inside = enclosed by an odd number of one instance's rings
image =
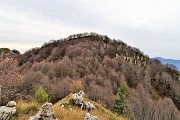
[[[52,103],[44,103],[39,112],[29,118],[29,120],[56,120],[52,108]]]

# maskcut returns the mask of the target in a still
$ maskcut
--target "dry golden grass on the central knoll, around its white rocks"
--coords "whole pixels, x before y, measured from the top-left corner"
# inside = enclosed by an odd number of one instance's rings
[[[54,105],[55,116],[59,120],[84,120],[85,111],[81,110],[79,107],[71,105],[69,102],[71,100],[72,94],[68,95],[66,98],[62,99]],[[85,99],[85,101],[89,101]],[[67,108],[61,108],[60,103],[69,103]],[[94,111],[91,112],[92,115],[98,116],[100,120],[127,120],[125,118],[119,117],[113,114],[110,110],[107,110],[102,105],[91,101],[96,107]]]

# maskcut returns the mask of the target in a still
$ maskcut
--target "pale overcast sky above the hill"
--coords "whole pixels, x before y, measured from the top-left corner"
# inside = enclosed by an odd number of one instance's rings
[[[0,0],[0,47],[22,53],[52,39],[96,32],[150,57],[180,59],[179,0]]]

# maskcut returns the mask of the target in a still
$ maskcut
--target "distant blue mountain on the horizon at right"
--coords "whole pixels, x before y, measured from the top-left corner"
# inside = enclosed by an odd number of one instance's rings
[[[162,57],[155,57],[155,59],[158,59],[159,61],[161,61],[162,64],[172,64],[174,65],[177,70],[180,70],[180,60],[174,60],[174,59],[165,59]]]

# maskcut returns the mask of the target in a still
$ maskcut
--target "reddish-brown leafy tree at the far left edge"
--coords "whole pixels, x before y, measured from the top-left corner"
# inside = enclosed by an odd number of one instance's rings
[[[17,68],[17,61],[6,58],[0,61],[0,104],[14,99],[17,93],[17,86],[22,83],[22,75]]]

